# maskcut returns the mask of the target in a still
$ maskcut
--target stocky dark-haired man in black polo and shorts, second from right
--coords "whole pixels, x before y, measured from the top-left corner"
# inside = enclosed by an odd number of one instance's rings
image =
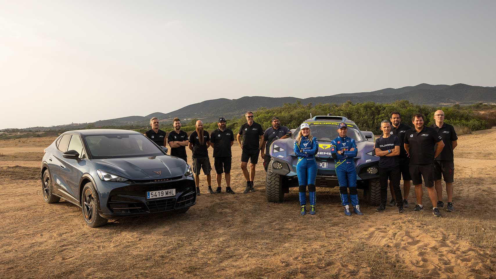
[[[415,196],[417,205],[413,209],[419,211],[424,209],[422,205],[422,177],[429,192],[429,199],[433,204],[433,214],[441,217],[441,212],[437,209],[437,193],[434,188],[434,158],[441,153],[444,143],[441,136],[431,127],[424,126],[424,116],[420,113],[412,117],[415,128],[405,133],[405,150],[410,154],[410,175],[415,185]],[[437,143],[437,147],[436,147]],[[434,151],[435,148],[435,151]]]

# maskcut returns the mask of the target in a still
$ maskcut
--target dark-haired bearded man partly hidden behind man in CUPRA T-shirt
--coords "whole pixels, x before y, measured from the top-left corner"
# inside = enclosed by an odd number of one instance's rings
[[[401,115],[399,111],[393,111],[391,113],[391,124],[393,125],[391,127],[391,132],[389,132],[391,135],[394,135],[398,137],[400,140],[400,155],[398,157],[398,163],[399,163],[399,168],[401,172],[401,176],[403,177],[403,207],[408,208],[408,195],[410,194],[410,186],[411,183],[410,181],[412,180],[412,177],[410,176],[410,158],[408,157],[408,154],[406,153],[405,146],[403,145],[403,139],[405,139],[405,133],[406,131],[410,130],[410,126],[401,124]],[[390,207],[394,207],[396,205],[396,197],[394,195],[394,189],[393,189],[393,184],[389,183],[389,191],[391,191],[391,197],[392,200],[389,203]]]

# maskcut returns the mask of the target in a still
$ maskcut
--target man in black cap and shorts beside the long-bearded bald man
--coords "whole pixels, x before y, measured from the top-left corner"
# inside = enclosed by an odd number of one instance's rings
[[[218,129],[215,129],[210,136],[210,146],[214,148],[214,166],[217,172],[217,191],[220,194],[222,188],[220,183],[222,180],[222,173],[225,173],[226,178],[226,193],[235,194],[231,189],[231,146],[234,143],[233,131],[226,128],[226,119],[219,118],[217,122]]]

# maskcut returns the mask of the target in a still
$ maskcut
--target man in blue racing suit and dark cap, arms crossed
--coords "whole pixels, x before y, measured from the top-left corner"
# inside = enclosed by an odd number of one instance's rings
[[[348,127],[342,122],[338,125],[339,137],[331,141],[331,154],[334,159],[336,175],[339,181],[339,193],[341,202],[344,206],[344,213],[351,216],[350,206],[348,202],[348,190],[350,188],[350,199],[353,211],[357,215],[363,215],[358,204],[357,192],[357,171],[355,170],[354,158],[357,156],[357,143],[355,139],[346,136]]]

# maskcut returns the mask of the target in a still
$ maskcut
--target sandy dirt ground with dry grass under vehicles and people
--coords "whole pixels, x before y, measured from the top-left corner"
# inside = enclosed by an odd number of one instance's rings
[[[496,129],[459,137],[457,210],[442,210],[442,218],[413,206],[398,214],[366,204],[364,216],[347,217],[338,189],[328,188],[317,188],[317,214],[300,216],[297,188],[284,203],[266,201],[261,160],[257,191],[242,193],[235,144],[236,195],[206,194],[202,176],[203,194],[186,213],[111,220],[100,228],[86,226],[81,209],[68,202],[44,203],[39,170],[53,140],[0,140],[2,279],[496,278]],[[409,202],[415,205],[413,188]],[[429,203],[424,189],[423,204]]]

